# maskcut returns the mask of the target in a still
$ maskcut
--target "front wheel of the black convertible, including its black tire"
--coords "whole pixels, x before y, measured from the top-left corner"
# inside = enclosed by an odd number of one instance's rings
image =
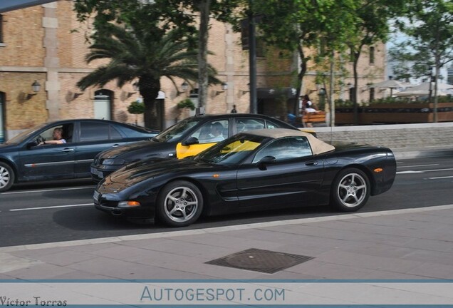
[[[187,181],[168,183],[157,197],[157,217],[171,227],[191,225],[202,214],[202,210],[202,193],[197,185]]]

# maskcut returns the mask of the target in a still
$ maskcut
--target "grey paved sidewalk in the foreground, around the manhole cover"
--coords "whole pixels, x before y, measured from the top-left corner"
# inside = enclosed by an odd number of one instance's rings
[[[452,242],[443,205],[2,247],[0,279],[452,279]],[[206,263],[252,248],[313,259],[274,274]]]

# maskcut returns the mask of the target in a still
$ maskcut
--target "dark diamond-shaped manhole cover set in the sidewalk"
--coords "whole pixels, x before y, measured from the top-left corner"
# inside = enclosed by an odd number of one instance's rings
[[[216,260],[206,262],[210,265],[234,267],[243,270],[266,272],[273,274],[288,267],[312,260],[313,257],[303,255],[291,255],[284,252],[273,252],[270,250],[259,250],[251,248],[232,255],[227,255]]]

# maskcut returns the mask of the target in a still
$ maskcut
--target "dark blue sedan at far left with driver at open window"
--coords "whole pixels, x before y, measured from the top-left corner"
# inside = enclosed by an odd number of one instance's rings
[[[51,140],[55,128],[63,129],[67,143],[38,145]],[[38,125],[0,144],[0,193],[14,183],[89,178],[90,164],[100,151],[157,133],[110,120],[60,120]]]

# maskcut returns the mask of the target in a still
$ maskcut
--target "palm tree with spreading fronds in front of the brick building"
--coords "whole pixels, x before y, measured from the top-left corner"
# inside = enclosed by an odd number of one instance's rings
[[[108,24],[95,34],[87,63],[108,58],[110,62],[99,66],[78,81],[77,86],[85,90],[89,86],[104,86],[116,79],[118,87],[138,78],[140,95],[145,104],[145,126],[162,129],[161,115],[157,115],[155,100],[160,91],[160,79],[175,78],[197,81],[197,51],[190,48],[189,38],[180,36],[177,29],[163,31],[152,28],[140,29],[142,23],[130,27]],[[142,27],[145,28],[145,27]],[[219,83],[214,77],[217,72],[209,66],[211,83]]]

